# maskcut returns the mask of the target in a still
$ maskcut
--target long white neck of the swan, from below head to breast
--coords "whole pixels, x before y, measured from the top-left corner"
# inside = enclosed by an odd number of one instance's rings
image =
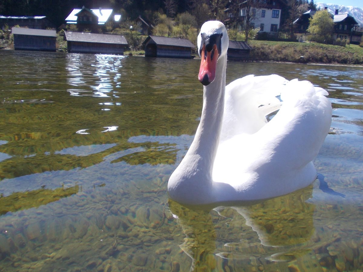
[[[223,120],[227,56],[216,66],[215,80],[203,89],[203,109],[193,143],[171,175],[168,191],[180,202],[207,203],[212,197],[212,172]]]

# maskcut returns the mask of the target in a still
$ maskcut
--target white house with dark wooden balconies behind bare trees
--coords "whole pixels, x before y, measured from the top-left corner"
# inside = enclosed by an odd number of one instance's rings
[[[246,6],[242,2],[238,11],[229,7],[224,11],[224,24],[227,28],[235,27],[242,30],[246,24],[246,18],[250,18],[253,28],[260,29],[260,32],[277,33],[280,28],[281,10],[283,3],[280,0],[258,1],[256,8]]]

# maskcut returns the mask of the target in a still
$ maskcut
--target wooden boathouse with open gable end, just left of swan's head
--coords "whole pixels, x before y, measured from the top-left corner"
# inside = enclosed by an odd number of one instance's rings
[[[145,57],[193,58],[195,47],[188,39],[150,35],[143,42]]]

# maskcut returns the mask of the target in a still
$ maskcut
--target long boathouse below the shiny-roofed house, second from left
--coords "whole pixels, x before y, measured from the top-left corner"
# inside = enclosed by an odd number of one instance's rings
[[[65,31],[64,36],[70,53],[123,55],[128,46],[126,38],[122,35]]]

